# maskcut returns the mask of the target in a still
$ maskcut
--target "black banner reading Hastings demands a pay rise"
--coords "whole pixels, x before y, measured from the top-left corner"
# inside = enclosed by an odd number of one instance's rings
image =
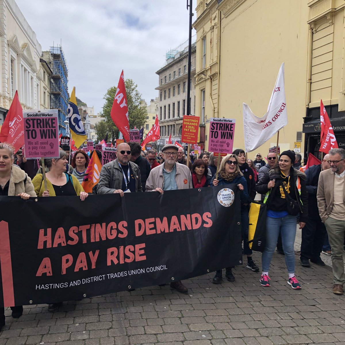
[[[4,306],[99,296],[242,263],[236,185],[85,201],[0,196],[0,207]]]

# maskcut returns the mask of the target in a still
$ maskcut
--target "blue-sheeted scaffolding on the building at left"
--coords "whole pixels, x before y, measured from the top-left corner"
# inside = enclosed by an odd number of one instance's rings
[[[68,111],[68,69],[61,46],[49,48],[48,61],[52,70],[50,77],[50,109],[58,110],[59,132],[66,135],[64,121],[67,119]]]

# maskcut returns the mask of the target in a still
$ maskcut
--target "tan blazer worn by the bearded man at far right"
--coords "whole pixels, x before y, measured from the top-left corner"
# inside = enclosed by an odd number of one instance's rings
[[[325,220],[328,218],[333,207],[334,178],[334,172],[332,169],[321,171],[319,175],[317,186],[317,206],[323,223],[325,223]],[[345,184],[343,193],[345,202]]]

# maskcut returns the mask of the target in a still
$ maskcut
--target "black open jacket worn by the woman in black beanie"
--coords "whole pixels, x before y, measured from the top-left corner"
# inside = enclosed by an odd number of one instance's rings
[[[299,208],[301,210],[299,220],[305,223],[308,219],[308,193],[307,193],[307,187],[306,187],[307,177],[303,172],[293,169],[293,168],[290,171],[290,176],[293,177],[295,195],[297,198]],[[297,176],[299,176],[300,184],[301,184],[300,196],[296,187]],[[270,193],[268,209],[269,209],[269,205],[274,203],[274,198],[275,198],[274,192],[276,188],[279,186],[279,180],[282,180],[282,176],[280,175],[280,169],[269,170],[268,174],[265,174],[265,176],[256,184],[256,191],[260,194],[266,194],[269,190],[267,188],[268,182],[273,179],[275,179],[275,186],[272,188],[272,191]],[[293,197],[294,194],[292,194],[291,196]]]

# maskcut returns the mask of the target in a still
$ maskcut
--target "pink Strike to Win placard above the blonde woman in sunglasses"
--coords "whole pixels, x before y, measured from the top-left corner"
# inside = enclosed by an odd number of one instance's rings
[[[235,119],[211,118],[208,150],[214,153],[232,153],[234,134]]]

